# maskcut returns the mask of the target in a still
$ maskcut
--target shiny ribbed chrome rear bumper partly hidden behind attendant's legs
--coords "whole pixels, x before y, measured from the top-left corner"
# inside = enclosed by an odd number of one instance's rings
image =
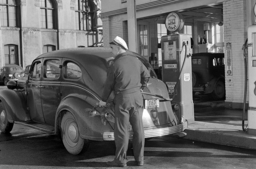
[[[186,120],[186,122],[176,126],[171,126],[172,124],[168,123],[168,124],[163,124],[161,126],[146,127],[144,128],[145,138],[175,134],[177,132],[184,131],[187,128],[187,124],[188,122]],[[132,139],[132,138],[133,138],[133,131],[129,131],[129,139]],[[114,132],[104,132],[103,140],[105,141],[115,140]]]

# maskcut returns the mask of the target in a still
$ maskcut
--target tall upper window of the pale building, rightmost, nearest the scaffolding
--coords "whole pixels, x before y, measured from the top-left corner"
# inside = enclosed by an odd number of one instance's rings
[[[77,30],[94,30],[93,11],[89,0],[75,1],[75,21]]]

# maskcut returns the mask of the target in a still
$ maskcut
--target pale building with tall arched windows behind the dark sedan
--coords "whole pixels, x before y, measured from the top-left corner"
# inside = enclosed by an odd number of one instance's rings
[[[0,0],[0,67],[52,50],[102,46],[100,0]]]

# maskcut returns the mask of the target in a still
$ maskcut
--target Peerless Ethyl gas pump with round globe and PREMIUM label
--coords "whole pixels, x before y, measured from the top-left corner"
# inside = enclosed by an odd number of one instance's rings
[[[184,25],[181,14],[167,15],[166,28],[178,32]],[[161,37],[162,81],[166,84],[172,103],[178,104],[175,110],[179,120],[194,123],[194,103],[192,97],[191,48],[189,34],[171,34]]]

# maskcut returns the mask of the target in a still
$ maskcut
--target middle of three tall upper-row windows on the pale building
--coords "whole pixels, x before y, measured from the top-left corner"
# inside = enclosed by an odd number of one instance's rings
[[[55,9],[50,0],[40,0],[41,27],[54,29]]]

